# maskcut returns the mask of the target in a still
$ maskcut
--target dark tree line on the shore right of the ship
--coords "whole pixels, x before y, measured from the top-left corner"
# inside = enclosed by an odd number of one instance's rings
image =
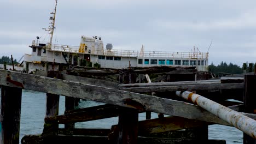
[[[243,63],[243,66],[239,67],[236,64],[227,64],[226,62],[221,62],[216,66],[213,63],[211,63],[211,65],[208,66],[208,70],[216,76],[222,74],[242,74],[253,72],[255,69],[255,65],[256,63]]]

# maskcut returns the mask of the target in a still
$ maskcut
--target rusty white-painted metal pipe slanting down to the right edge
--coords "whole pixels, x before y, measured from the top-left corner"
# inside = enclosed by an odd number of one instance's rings
[[[240,112],[231,110],[228,107],[220,105],[215,101],[202,97],[199,94],[191,93],[188,91],[177,91],[176,95],[193,102],[194,104],[228,122],[233,127],[240,129],[247,135],[256,139],[256,121],[254,119],[242,115]]]

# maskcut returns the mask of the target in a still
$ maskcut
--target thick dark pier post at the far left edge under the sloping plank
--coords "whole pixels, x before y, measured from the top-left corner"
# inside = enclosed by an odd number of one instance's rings
[[[18,144],[20,140],[20,111],[22,89],[2,86],[0,143]]]

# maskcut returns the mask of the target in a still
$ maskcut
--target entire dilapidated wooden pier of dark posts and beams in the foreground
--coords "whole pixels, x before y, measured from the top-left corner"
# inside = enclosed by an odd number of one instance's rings
[[[243,143],[256,143],[255,75],[198,81],[187,73],[190,81],[172,81],[170,75],[176,73],[169,70],[156,70],[165,73],[165,79],[161,78],[165,82],[151,82],[148,70],[121,71],[118,82],[57,71],[38,76],[0,70],[0,143],[19,143],[22,88],[44,92],[47,100],[42,107],[46,110],[42,134],[22,137],[24,144],[226,143],[208,140],[208,125],[212,124],[236,127],[244,132]],[[66,96],[64,115],[59,115],[60,95]],[[76,99],[105,105],[74,109]],[[147,119],[138,121],[142,112]],[[159,118],[151,119],[150,112],[159,113]],[[110,117],[119,117],[119,121],[109,129],[75,128],[77,122]],[[65,128],[60,129],[59,124]]]

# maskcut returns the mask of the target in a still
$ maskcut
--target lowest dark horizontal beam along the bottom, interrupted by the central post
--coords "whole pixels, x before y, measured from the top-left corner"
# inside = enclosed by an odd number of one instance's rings
[[[51,136],[42,139],[39,135],[26,135],[22,138],[22,144],[43,144],[43,143],[106,143],[112,144],[113,140],[108,140],[107,136]],[[225,144],[225,140],[192,140],[192,139],[172,139],[156,137],[138,137],[138,143],[141,144],[165,144],[165,143],[183,143],[183,144]]]

